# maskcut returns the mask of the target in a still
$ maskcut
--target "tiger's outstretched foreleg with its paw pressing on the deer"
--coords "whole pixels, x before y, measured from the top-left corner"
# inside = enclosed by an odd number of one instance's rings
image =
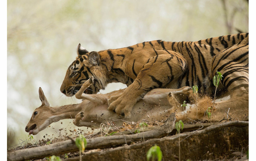
[[[115,110],[117,114],[130,118],[130,111],[140,98],[154,88],[165,87],[171,82],[176,83],[185,67],[184,59],[178,60],[171,54],[158,55],[144,65],[137,78],[122,94],[108,100],[108,110]]]

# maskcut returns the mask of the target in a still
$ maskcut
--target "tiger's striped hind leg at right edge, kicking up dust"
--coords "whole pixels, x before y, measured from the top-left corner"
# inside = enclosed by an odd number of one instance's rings
[[[232,111],[248,114],[249,107],[249,41],[245,38],[240,44],[236,44],[222,51],[213,59],[212,71],[222,73],[221,83],[229,92],[230,99],[216,102],[215,108],[224,112],[230,108]],[[218,90],[218,89],[217,89]]]

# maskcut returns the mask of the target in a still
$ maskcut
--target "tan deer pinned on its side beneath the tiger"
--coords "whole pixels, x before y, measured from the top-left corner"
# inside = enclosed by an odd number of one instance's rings
[[[108,110],[108,99],[119,95],[124,89],[107,94],[87,94],[87,88],[90,87],[93,80],[94,78],[91,77],[85,81],[75,94],[77,99],[82,99],[80,104],[57,107],[50,107],[43,90],[39,87],[39,98],[42,105],[34,110],[25,131],[29,132],[29,135],[36,135],[53,122],[68,118],[74,118],[74,125],[86,127],[99,127],[104,122],[113,122],[116,126],[120,126],[123,122],[138,122],[142,119],[158,121],[179,109],[180,102],[194,99],[191,87],[179,89],[156,88],[137,101],[131,111],[131,117],[125,120],[124,115],[118,115],[115,111]]]

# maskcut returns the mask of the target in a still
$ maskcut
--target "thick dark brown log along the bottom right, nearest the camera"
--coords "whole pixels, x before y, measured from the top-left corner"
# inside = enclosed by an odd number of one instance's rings
[[[233,121],[209,126],[203,130],[185,132],[180,135],[181,160],[215,160],[229,157],[233,150],[248,150],[249,122]],[[179,159],[179,135],[151,139],[146,142],[121,146],[113,149],[98,149],[86,152],[83,160],[146,160],[146,153],[155,144],[160,146],[162,160]],[[96,151],[96,152],[95,152]],[[117,157],[118,156],[118,157]],[[230,156],[231,159],[233,156]],[[79,160],[79,157],[67,158],[65,161]]]

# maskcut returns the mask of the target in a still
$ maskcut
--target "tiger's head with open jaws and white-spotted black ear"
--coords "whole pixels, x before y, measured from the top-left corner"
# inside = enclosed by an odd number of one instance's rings
[[[66,96],[73,96],[82,84],[92,76],[94,83],[84,93],[97,94],[100,89],[105,89],[107,85],[106,71],[101,67],[100,55],[96,51],[88,52],[80,43],[77,54],[78,57],[66,72],[60,91]]]

